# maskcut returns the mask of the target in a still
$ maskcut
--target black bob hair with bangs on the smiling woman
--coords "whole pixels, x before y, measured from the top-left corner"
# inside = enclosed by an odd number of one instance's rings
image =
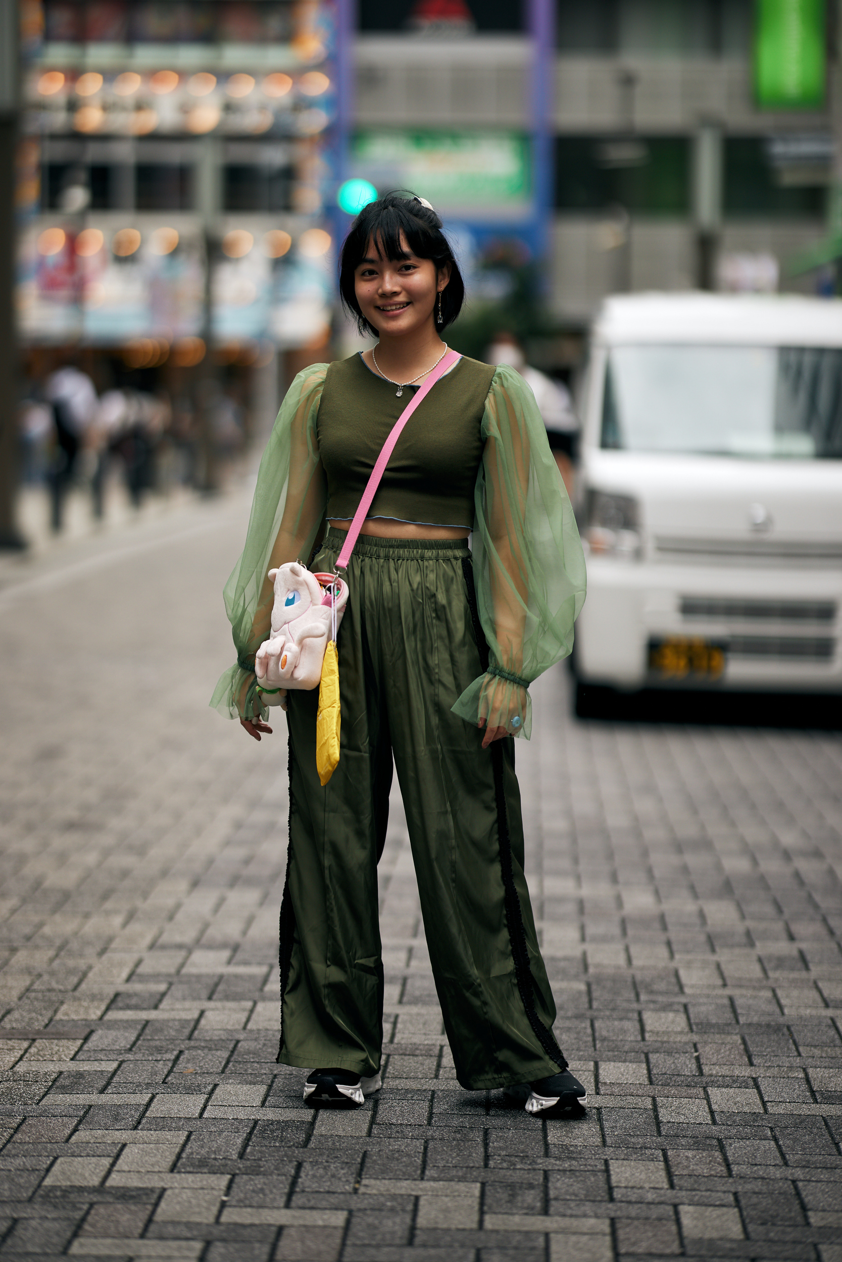
[[[353,273],[366,256],[369,241],[374,244],[380,257],[385,255],[390,260],[405,259],[406,252],[400,244],[401,232],[406,245],[419,259],[430,259],[437,270],[448,262],[451,265],[451,279],[442,292],[442,323],[436,326],[438,332],[452,324],[462,310],[465,281],[451,244],[442,232],[438,215],[412,193],[385,193],[376,202],[369,202],[362,207],[351,225],[340,254],[342,305],[353,314],[357,328],[364,334],[371,333],[372,337],[377,337],[377,329],[360,310],[353,288]]]

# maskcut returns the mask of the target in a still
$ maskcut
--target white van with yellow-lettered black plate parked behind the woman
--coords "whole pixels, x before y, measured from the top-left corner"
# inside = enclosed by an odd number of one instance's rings
[[[581,410],[579,713],[583,685],[842,692],[842,302],[611,298]]]

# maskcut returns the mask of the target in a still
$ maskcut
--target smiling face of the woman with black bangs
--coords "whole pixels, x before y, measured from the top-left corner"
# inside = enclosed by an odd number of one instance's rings
[[[449,265],[439,273],[432,259],[419,259],[401,232],[405,259],[380,259],[372,240],[353,273],[360,310],[379,333],[412,333],[433,319],[438,290],[449,279]]]

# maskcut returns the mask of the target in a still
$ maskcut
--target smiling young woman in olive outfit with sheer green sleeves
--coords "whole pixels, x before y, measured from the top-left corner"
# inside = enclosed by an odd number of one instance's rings
[[[340,288],[374,350],[299,372],[266,447],[245,550],[225,588],[237,665],[212,705],[255,740],[289,727],[289,858],[280,911],[278,1060],[317,1066],[313,1104],[380,1087],[384,972],[377,859],[393,758],[456,1073],[530,1113],[584,1100],[553,1035],[555,1006],[524,880],[513,737],[528,688],[572,646],[584,598],[573,514],[523,379],[466,357],[401,433],[347,569],[338,635],[341,756],[316,770],[318,690],[264,694],[271,567],[332,572],[410,391],[444,356],[465,286],[420,198],[366,206]],[[472,550],[468,536],[472,534]]]

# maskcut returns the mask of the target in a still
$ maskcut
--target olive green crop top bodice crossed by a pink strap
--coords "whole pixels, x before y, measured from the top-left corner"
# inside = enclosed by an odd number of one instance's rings
[[[462,357],[406,424],[377,487],[370,517],[473,525],[473,488],[482,459],[482,415],[495,369]],[[413,391],[418,386],[410,387]],[[329,365],[317,418],[317,442],[327,480],[326,516],[350,519],[375,461],[409,403],[375,374],[362,356]]]

